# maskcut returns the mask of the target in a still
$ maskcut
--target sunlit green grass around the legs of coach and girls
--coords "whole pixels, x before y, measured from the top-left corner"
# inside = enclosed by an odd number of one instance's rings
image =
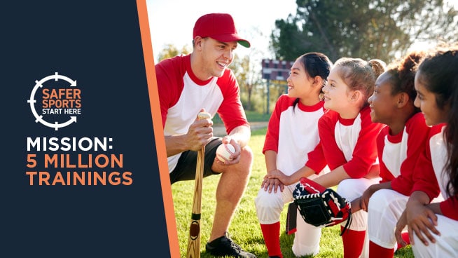
[[[249,120],[250,121],[250,120]],[[233,240],[240,244],[244,250],[256,254],[258,257],[268,257],[265,248],[261,228],[256,217],[254,207],[254,198],[258,194],[261,181],[265,175],[264,156],[261,152],[266,129],[255,130],[252,132],[250,146],[254,151],[254,164],[249,179],[247,190],[237,208],[233,221],[230,224],[229,232]],[[201,218],[201,236],[200,250],[201,257],[211,257],[205,252],[205,243],[210,236],[211,223],[213,221],[215,207],[215,189],[220,176],[206,177],[203,180],[202,189],[202,218]],[[188,229],[190,224],[190,211],[193,202],[194,181],[177,182],[172,184],[172,195],[174,198],[174,210],[176,216],[176,226],[179,237],[179,247],[181,257],[186,257],[188,245]],[[294,257],[291,251],[293,245],[293,235],[284,233],[286,206],[281,215],[281,236],[282,252],[285,258]],[[342,240],[339,236],[339,226],[333,226],[323,229],[320,243],[320,252],[315,257],[335,258],[343,257]],[[413,257],[410,247],[405,247],[395,253],[394,257]]]

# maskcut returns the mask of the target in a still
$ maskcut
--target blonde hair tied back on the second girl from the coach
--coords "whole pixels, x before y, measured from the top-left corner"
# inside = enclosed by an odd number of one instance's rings
[[[387,64],[380,59],[365,61],[361,58],[342,57],[335,61],[334,67],[338,68],[338,75],[350,89],[363,93],[363,106],[366,106],[374,91],[375,81],[387,69]]]

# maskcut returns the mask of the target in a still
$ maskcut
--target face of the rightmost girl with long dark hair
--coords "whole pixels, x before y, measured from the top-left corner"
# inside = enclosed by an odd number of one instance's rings
[[[422,72],[418,71],[415,75],[415,90],[417,90],[417,97],[415,97],[415,107],[422,110],[426,125],[437,125],[439,123],[447,122],[447,114],[450,109],[448,105],[444,109],[437,106],[436,95],[431,93],[427,88],[427,81]]]

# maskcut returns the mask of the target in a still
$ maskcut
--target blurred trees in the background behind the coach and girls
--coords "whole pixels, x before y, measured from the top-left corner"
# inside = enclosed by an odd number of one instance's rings
[[[276,60],[294,61],[307,52],[321,52],[335,62],[340,57],[378,58],[389,63],[404,55],[415,42],[458,41],[458,12],[443,0],[296,0],[296,15],[275,20],[270,51]],[[158,60],[192,51],[169,44]],[[286,81],[261,79],[261,60],[239,57],[230,68],[237,76],[244,108],[269,114]],[[268,102],[269,101],[269,102]],[[266,104],[266,103],[270,104]],[[270,107],[270,110],[266,110]]]

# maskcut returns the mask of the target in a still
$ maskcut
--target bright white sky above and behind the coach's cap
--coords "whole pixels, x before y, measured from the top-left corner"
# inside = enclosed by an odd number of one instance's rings
[[[458,8],[458,0],[446,0]],[[251,48],[239,46],[240,56],[256,53],[263,59],[273,58],[269,52],[270,33],[275,20],[296,14],[296,0],[147,0],[148,20],[155,62],[158,53],[169,43],[176,48],[191,47],[195,21],[206,13],[230,13],[240,36],[251,43]],[[428,48],[418,43],[410,50]]]

